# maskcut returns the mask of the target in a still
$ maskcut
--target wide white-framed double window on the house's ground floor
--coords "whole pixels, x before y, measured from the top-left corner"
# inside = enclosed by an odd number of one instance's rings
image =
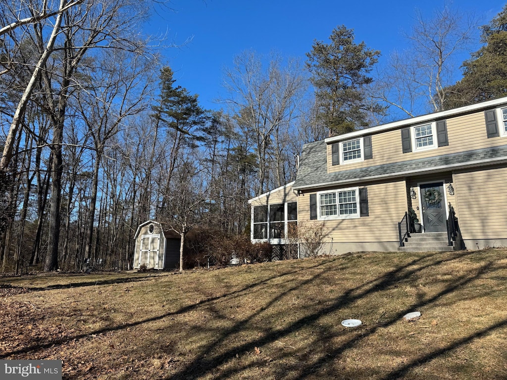
[[[358,187],[318,193],[318,219],[359,217]]]

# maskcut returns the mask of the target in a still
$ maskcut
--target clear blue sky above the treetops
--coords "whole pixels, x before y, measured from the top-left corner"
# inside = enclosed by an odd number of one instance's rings
[[[447,4],[475,13],[482,25],[501,11],[505,0]],[[304,60],[313,40],[327,41],[333,28],[344,24],[354,29],[356,42],[381,51],[382,64],[390,52],[405,48],[403,31],[410,30],[416,9],[431,16],[443,5],[442,0],[171,0],[173,11],[154,14],[146,32],[167,32],[168,42],[178,45],[192,38],[182,47],[164,49],[163,55],[175,71],[176,84],[199,94],[205,108],[219,109],[222,105],[214,99],[224,94],[223,68],[231,67],[233,57],[244,50],[266,55],[275,50]]]

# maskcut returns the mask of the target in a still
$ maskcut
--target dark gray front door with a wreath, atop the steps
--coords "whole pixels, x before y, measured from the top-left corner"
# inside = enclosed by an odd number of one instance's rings
[[[438,182],[421,185],[421,203],[424,232],[447,231],[444,184]]]

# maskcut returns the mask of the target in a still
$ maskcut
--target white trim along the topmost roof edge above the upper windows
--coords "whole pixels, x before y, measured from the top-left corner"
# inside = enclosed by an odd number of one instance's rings
[[[415,118],[404,119],[404,120],[399,120],[397,122],[382,124],[382,125],[378,125],[375,127],[365,128],[365,129],[360,129],[358,131],[345,133],[343,135],[328,137],[327,139],[324,139],[324,141],[327,144],[332,143],[332,142],[337,142],[337,141],[344,141],[346,139],[357,137],[357,136],[369,135],[372,133],[382,132],[382,131],[389,130],[389,129],[395,129],[397,127],[414,125],[414,124],[424,123],[424,122],[428,122],[428,121],[434,121],[434,120],[441,119],[441,118],[444,118],[447,116],[457,115],[458,113],[476,111],[476,110],[485,109],[485,108],[497,106],[500,104],[506,104],[506,103],[507,103],[507,97],[494,99],[494,100],[488,100],[488,101],[485,101],[482,103],[465,105],[464,107],[449,109],[447,111],[428,113],[427,115],[416,116]]]

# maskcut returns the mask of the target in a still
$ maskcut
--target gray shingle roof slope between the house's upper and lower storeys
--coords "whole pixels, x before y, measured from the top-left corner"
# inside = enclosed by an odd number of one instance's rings
[[[323,140],[303,145],[298,175],[293,188],[339,184],[342,182],[371,181],[374,178],[388,178],[418,172],[443,171],[446,170],[446,166],[452,168],[474,166],[484,164],[483,161],[488,160],[499,161],[505,159],[507,161],[507,145],[501,145],[492,148],[468,150],[424,159],[328,173],[326,152],[326,143]]]

